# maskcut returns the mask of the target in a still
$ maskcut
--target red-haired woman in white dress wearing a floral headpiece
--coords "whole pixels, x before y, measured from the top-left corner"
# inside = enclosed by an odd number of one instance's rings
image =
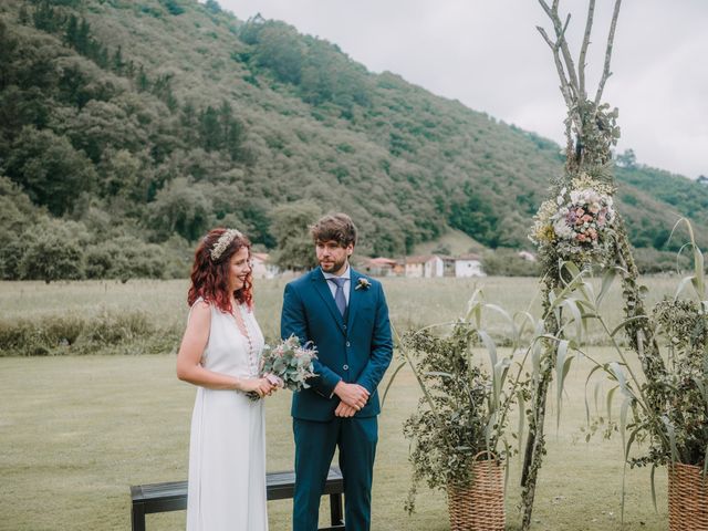
[[[177,377],[198,386],[189,442],[188,531],[266,531],[263,335],[253,316],[250,241],[214,229],[199,243]]]

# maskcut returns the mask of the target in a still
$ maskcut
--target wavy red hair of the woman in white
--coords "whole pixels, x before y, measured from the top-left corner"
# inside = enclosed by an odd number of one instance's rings
[[[187,293],[187,304],[190,306],[197,299],[202,298],[206,302],[215,304],[222,312],[230,313],[233,311],[228,282],[229,261],[231,257],[243,247],[248,249],[250,258],[251,242],[243,235],[236,236],[221,256],[217,260],[214,260],[211,258],[211,250],[226,231],[227,229],[223,228],[210,230],[209,233],[201,239],[195,251],[195,263],[191,267],[191,285]],[[248,273],[243,288],[233,292],[236,300],[240,304],[246,303],[248,308],[253,306],[251,274],[252,272]]]

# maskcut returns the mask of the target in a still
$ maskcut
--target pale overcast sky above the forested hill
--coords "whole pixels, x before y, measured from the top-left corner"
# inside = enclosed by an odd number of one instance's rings
[[[372,72],[563,142],[565,107],[537,0],[219,0],[340,45]],[[550,3],[550,0],[549,0]],[[597,0],[587,56],[594,96],[613,0]],[[577,58],[586,0],[564,0]],[[708,0],[624,0],[603,101],[620,108],[618,150],[691,178],[708,176]],[[577,62],[577,61],[576,61]]]

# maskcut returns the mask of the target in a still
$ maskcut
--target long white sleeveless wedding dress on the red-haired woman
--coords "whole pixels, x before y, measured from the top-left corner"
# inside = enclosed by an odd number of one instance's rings
[[[201,365],[250,377],[258,374],[263,334],[246,305],[236,311],[243,316],[250,341],[233,315],[212,304]],[[267,530],[263,400],[199,387],[189,441],[187,531]]]

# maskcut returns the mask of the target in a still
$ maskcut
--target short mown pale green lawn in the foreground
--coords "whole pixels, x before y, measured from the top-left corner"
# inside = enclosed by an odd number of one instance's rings
[[[596,350],[603,357],[608,351]],[[128,486],[185,479],[195,389],[175,377],[174,355],[0,358],[0,529],[124,530]],[[571,372],[560,431],[550,408],[545,466],[534,530],[620,530],[618,440],[585,444],[582,388],[586,366]],[[409,486],[408,444],[400,426],[418,388],[402,373],[379,419],[373,529],[449,529],[445,497],[420,488],[417,512],[403,504]],[[268,400],[268,468],[292,467],[290,396]],[[508,529],[518,530],[519,461],[511,462]],[[625,527],[664,530],[666,472],[657,471],[658,514],[647,470],[627,475]],[[269,503],[271,530],[290,529],[290,501]],[[326,521],[326,502],[323,503]],[[148,529],[184,529],[185,512],[148,516]]]

